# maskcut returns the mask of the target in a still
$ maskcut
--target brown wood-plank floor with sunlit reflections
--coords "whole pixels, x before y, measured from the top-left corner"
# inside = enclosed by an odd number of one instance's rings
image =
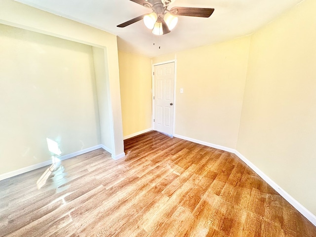
[[[0,181],[0,236],[316,237],[239,158],[156,131]]]

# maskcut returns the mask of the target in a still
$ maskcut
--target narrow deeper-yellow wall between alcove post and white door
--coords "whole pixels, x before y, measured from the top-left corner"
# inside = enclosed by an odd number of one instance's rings
[[[151,59],[118,52],[123,135],[152,127]]]

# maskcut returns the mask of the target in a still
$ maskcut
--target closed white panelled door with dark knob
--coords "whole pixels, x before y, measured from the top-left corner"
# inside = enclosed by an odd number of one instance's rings
[[[154,66],[155,130],[173,135],[174,62]]]

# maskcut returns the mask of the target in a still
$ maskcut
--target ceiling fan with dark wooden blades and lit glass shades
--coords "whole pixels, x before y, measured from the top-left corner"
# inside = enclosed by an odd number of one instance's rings
[[[214,8],[198,8],[198,7],[180,7],[175,6],[170,10],[168,5],[174,0],[131,0],[144,7],[153,10],[150,14],[140,15],[117,27],[126,27],[140,20],[144,20],[147,28],[153,30],[155,35],[165,35],[170,33],[178,22],[177,16],[196,16],[196,17],[210,17]]]

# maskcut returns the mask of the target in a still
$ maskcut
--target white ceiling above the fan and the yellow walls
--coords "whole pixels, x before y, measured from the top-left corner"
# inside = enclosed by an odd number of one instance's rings
[[[119,50],[155,57],[249,35],[302,0],[175,0],[168,9],[190,6],[215,11],[209,18],[179,16],[171,33],[155,39],[143,21],[116,27],[151,12],[130,0],[18,1],[117,35]]]

